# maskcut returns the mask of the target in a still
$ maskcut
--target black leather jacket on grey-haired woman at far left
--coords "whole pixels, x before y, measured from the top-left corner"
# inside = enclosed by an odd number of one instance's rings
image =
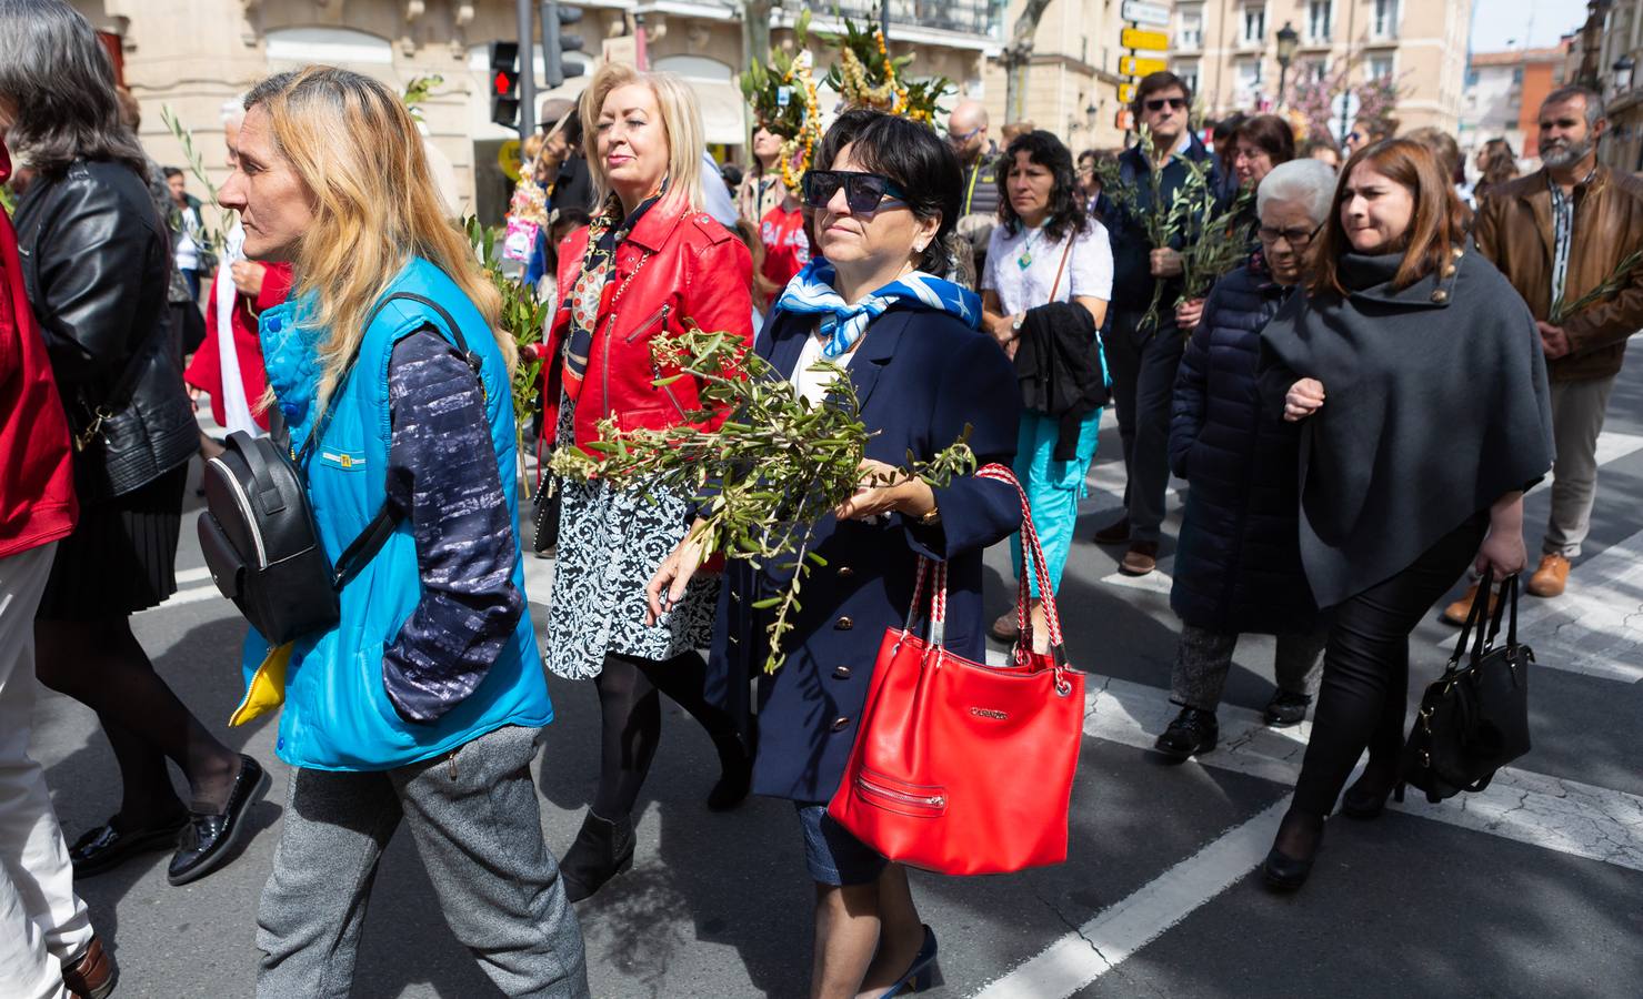
[[[76,454],[81,504],[187,461],[199,430],[166,305],[171,233],[143,179],[122,164],[77,159],[61,177],[35,180],[13,221],[69,430],[79,436],[100,408],[108,413],[99,440]],[[135,382],[120,399],[128,369]]]

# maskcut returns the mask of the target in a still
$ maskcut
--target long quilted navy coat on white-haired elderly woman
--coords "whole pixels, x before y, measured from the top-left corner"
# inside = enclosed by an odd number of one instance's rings
[[[1170,471],[1188,481],[1170,607],[1217,632],[1305,632],[1300,425],[1263,408],[1260,330],[1288,297],[1259,262],[1222,277],[1175,381]]]

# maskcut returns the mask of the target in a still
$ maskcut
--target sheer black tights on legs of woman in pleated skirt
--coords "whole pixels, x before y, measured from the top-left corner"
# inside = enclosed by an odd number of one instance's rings
[[[39,682],[97,712],[123,792],[123,828],[146,828],[182,814],[166,760],[189,781],[192,804],[219,812],[240,768],[238,755],[217,741],[154,673],[125,617],[95,622],[35,622],[35,674]]]

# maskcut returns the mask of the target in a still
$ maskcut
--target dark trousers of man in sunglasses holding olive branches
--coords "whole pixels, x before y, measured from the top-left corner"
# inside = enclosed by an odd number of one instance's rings
[[[1175,399],[1175,371],[1181,366],[1186,344],[1170,305],[1158,307],[1158,325],[1145,333],[1135,328],[1145,313],[1116,313],[1112,335],[1104,341],[1129,476],[1124,505],[1129,509],[1130,541],[1158,541],[1163,494],[1170,487],[1170,404]]]

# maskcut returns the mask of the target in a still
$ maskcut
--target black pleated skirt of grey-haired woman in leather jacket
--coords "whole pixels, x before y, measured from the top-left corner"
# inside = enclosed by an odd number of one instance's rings
[[[81,510],[58,558],[36,620],[102,620],[158,605],[177,592],[177,535],[189,466]]]

